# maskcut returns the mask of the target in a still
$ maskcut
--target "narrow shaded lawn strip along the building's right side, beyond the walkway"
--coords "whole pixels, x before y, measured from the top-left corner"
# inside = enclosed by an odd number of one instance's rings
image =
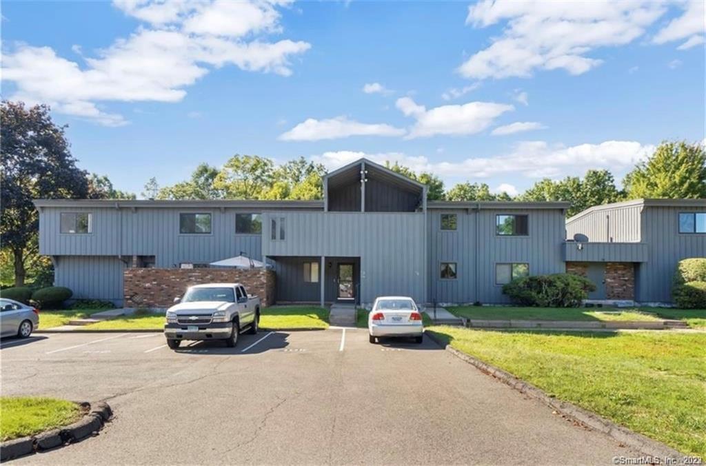
[[[537,321],[657,321],[676,318],[691,327],[706,328],[706,310],[661,308],[549,308],[512,306],[449,306],[456,316],[475,319],[515,319]],[[607,312],[606,312],[607,311]]]

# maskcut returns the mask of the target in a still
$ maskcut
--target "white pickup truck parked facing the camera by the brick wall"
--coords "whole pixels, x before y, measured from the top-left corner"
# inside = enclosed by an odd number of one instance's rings
[[[181,340],[225,340],[234,347],[242,330],[258,333],[260,298],[249,296],[240,283],[189,287],[174,303],[167,309],[164,324],[164,336],[172,349],[177,349]]]

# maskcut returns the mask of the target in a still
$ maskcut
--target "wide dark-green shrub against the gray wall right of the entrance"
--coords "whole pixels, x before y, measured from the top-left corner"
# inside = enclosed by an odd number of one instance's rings
[[[534,275],[503,285],[503,293],[522,306],[578,307],[596,286],[587,278],[570,273]]]

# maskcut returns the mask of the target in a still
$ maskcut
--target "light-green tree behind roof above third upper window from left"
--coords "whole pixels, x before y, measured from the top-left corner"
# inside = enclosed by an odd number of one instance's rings
[[[234,155],[213,181],[228,199],[260,199],[273,184],[272,160],[258,155]]]

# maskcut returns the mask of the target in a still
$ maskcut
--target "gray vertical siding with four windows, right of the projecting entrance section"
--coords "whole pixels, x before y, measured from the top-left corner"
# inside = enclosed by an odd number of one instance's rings
[[[457,215],[456,230],[441,229],[441,214]],[[527,214],[529,235],[496,235],[496,215]],[[562,273],[564,215],[556,210],[430,210],[429,300],[440,303],[507,303],[495,282],[496,263],[528,263],[531,275]],[[476,233],[477,232],[477,233]],[[455,280],[442,279],[442,262],[457,264]]]

